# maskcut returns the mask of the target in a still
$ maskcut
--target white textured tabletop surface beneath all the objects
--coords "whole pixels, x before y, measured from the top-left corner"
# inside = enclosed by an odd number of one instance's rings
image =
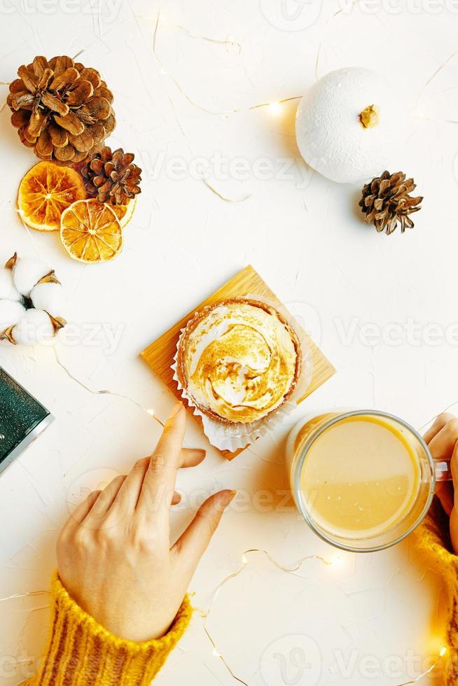
[[[457,49],[454,5],[371,2],[364,10],[355,3],[333,16],[340,7],[333,1],[169,0],[158,21],[158,3],[146,0],[1,3],[0,79],[12,80],[34,55],[83,50],[80,59],[102,71],[115,93],[118,125],[110,144],[134,151],[144,169],[123,254],[112,264],[84,267],[67,258],[57,237],[22,228],[15,195],[34,158],[10,126],[8,108],[1,111],[0,258],[38,253],[55,267],[72,325],[57,350],[71,374],[164,418],[172,395],[139,352],[251,262],[338,370],[298,417],[322,407],[374,406],[419,427],[457,400],[451,327],[457,322],[458,58],[427,83]],[[314,82],[316,66],[322,75],[352,65],[400,78],[416,103],[408,142],[391,169],[415,176],[425,196],[415,229],[404,236],[366,228],[356,207],[360,186],[338,186],[300,161],[297,101],[277,115],[249,109],[300,95]],[[4,101],[7,87],[0,89]],[[368,344],[373,323],[379,333]],[[69,500],[148,454],[158,425],[130,400],[90,393],[57,364],[52,348],[2,344],[0,364],[56,417],[0,479],[4,598],[48,587]],[[198,489],[242,491],[197,570],[195,604],[208,608],[245,549],[267,549],[283,565],[307,555],[337,557],[329,567],[307,561],[291,575],[261,554],[249,555],[249,566],[225,585],[208,620],[218,652],[249,686],[404,682],[441,645],[438,584],[408,542],[375,555],[337,555],[293,512],[261,506],[260,491],[286,487],[288,428],[226,463],[188,422],[188,444],[207,447],[208,457],[179,477],[191,497],[174,515],[176,528],[192,516]],[[47,603],[46,595],[0,601],[2,686],[26,675],[43,647]],[[157,682],[237,683],[213,654],[198,613]]]

